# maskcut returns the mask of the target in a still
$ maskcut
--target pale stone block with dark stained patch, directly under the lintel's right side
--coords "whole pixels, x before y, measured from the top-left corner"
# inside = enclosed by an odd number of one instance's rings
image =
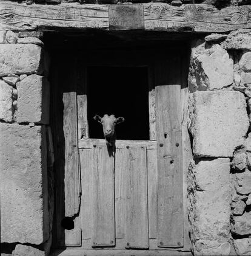
[[[207,91],[221,89],[233,83],[233,60],[218,44],[203,49],[204,44],[192,49],[190,62],[189,89]]]

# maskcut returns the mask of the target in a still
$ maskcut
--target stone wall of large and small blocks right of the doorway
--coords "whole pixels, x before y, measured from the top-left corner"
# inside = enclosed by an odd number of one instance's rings
[[[251,255],[251,30],[193,43],[188,181],[195,255]]]

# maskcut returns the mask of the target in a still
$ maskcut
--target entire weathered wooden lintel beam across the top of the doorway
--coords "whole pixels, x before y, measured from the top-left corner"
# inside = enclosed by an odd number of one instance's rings
[[[137,7],[132,8],[134,5]],[[175,7],[164,3],[148,3],[126,4],[121,9],[121,5],[26,5],[0,1],[0,30],[134,29],[135,22],[130,15],[135,17],[135,12],[141,13],[140,9],[144,15],[144,30],[196,33],[251,28],[250,5],[218,10],[206,4]],[[142,29],[141,24],[137,24],[135,29]]]

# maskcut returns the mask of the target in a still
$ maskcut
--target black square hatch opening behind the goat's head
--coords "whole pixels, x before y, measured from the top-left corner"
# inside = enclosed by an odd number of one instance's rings
[[[95,114],[122,116],[117,139],[149,140],[147,67],[88,67],[87,101],[90,138],[103,139]]]

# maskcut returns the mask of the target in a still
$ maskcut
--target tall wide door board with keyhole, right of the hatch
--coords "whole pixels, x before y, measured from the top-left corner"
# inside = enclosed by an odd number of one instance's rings
[[[158,246],[183,245],[181,86],[156,86]]]

